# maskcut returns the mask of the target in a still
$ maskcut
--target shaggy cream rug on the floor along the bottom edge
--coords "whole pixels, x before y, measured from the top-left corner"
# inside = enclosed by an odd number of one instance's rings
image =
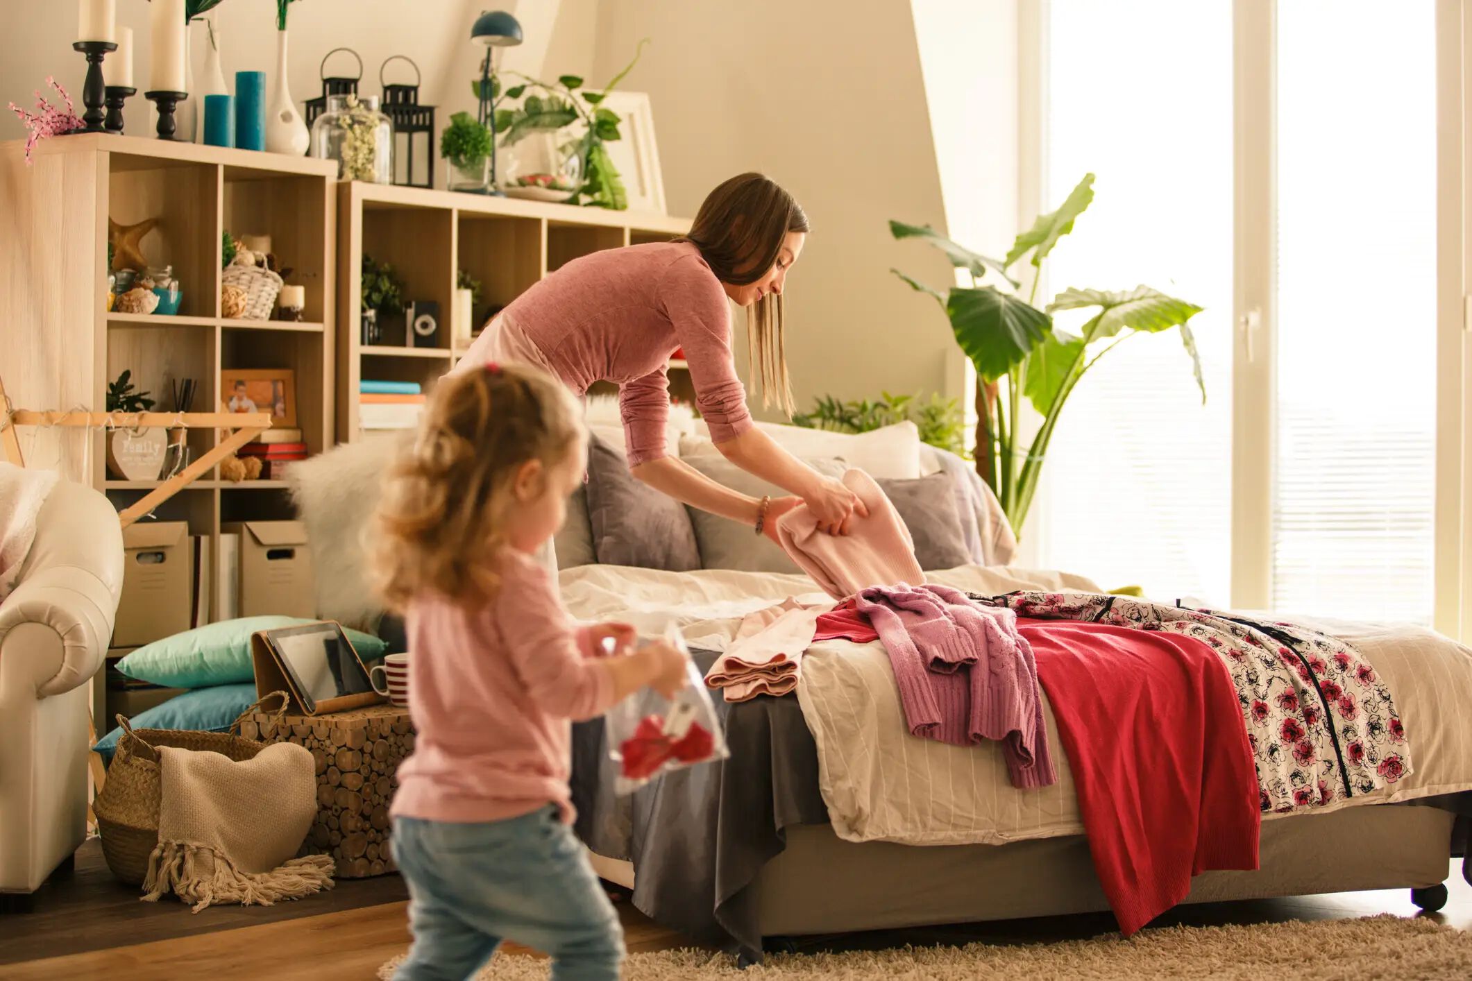
[[[378,969],[387,981],[402,957]],[[475,981],[540,981],[548,962],[498,955]],[[1472,934],[1429,919],[1382,915],[1365,919],[1256,924],[1250,927],[1166,927],[1130,940],[1094,940],[998,947],[902,947],[827,955],[776,955],[742,971],[735,957],[701,950],[636,953],[629,981],[973,981],[974,978],[1466,978],[1472,977]]]

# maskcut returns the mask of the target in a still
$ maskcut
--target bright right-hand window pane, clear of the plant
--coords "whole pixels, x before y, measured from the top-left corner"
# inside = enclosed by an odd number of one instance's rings
[[[1431,0],[1278,4],[1273,606],[1431,622]]]

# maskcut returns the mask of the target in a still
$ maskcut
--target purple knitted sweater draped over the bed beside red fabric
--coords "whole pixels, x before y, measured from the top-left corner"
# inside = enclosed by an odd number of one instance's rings
[[[999,740],[1014,787],[1058,780],[1016,613],[944,585],[870,587],[855,606],[889,652],[913,735],[952,746]]]

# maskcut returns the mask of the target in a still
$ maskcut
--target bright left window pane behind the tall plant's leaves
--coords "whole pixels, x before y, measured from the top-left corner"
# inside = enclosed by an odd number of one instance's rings
[[[1052,0],[1050,9],[1045,206],[1085,174],[1098,179],[1094,204],[1048,259],[1039,297],[1148,284],[1204,306],[1192,329],[1209,399],[1203,406],[1178,332],[1123,341],[1069,399],[1025,535],[1036,535],[1042,563],[1105,588],[1138,584],[1166,600],[1226,604],[1232,6]]]

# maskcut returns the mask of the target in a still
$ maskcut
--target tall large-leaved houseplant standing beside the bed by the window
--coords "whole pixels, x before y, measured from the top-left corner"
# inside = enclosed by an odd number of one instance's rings
[[[1188,322],[1201,307],[1166,296],[1147,285],[1133,290],[1067,288],[1044,309],[1035,306],[1042,262],[1073,222],[1094,200],[1094,175],[1088,174],[1063,204],[1039,215],[1032,228],[1017,235],[1005,259],[991,259],[960,246],[929,225],[889,222],[895,238],[920,238],[935,246],[963,271],[967,285],[936,290],[894,269],[914,290],[932,296],[951,321],[961,350],[976,366],[976,469],[997,494],[1007,521],[1022,537],[1027,509],[1038,490],[1048,443],[1069,394],[1098,359],[1135,334],[1158,334],[1178,328],[1191,357],[1201,400],[1206,384],[1201,359]],[[1032,288],[1025,300],[1010,269],[1023,257],[1033,268]],[[983,278],[1002,285],[977,285]],[[1058,310],[1094,310],[1079,332],[1069,334],[1054,324]],[[1022,399],[1038,410],[1042,422],[1030,444],[1022,444]]]

